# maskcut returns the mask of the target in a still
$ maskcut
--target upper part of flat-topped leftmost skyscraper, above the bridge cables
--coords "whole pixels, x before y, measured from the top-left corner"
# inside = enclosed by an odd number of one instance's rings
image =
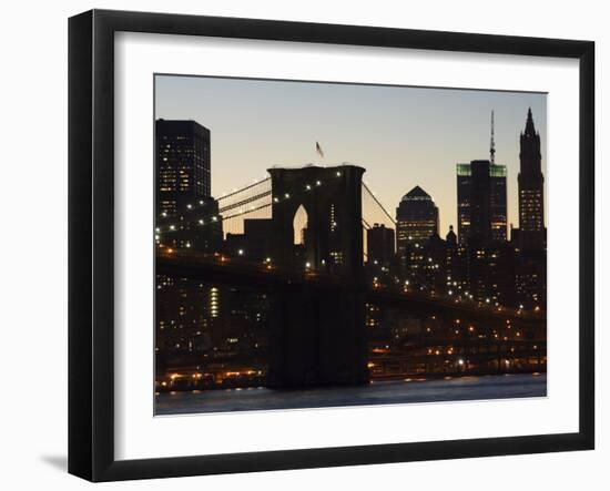
[[[194,121],[157,120],[157,213],[173,216],[211,196],[210,130]]]

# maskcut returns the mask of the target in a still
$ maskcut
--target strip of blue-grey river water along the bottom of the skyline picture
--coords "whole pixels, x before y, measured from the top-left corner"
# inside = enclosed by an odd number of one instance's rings
[[[156,415],[329,408],[546,397],[547,376],[510,375],[440,380],[376,381],[367,386],[276,390],[266,388],[160,393]]]

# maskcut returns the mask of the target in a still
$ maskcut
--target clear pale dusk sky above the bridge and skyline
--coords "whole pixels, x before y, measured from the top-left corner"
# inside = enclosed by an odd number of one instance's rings
[[[519,133],[528,108],[546,176],[546,94],[176,75],[155,82],[155,117],[194,120],[211,131],[215,196],[273,165],[349,162],[366,168],[364,181],[393,216],[400,197],[421,186],[439,207],[444,235],[457,221],[456,163],[489,157],[494,110],[508,222],[518,226]]]

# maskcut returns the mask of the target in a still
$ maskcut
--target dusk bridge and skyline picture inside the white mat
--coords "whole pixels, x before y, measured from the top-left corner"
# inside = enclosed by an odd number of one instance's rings
[[[545,398],[547,98],[155,73],[155,416]]]

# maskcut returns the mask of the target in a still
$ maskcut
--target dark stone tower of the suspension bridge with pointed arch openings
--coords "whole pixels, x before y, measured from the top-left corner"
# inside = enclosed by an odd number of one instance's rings
[[[355,385],[368,380],[364,313],[362,176],[356,165],[270,168],[272,260],[314,277],[272,296],[272,387]],[[307,214],[304,257],[294,217]],[[315,277],[319,276],[319,282]],[[332,278],[332,286],[324,278]],[[325,286],[326,285],[326,286]]]

